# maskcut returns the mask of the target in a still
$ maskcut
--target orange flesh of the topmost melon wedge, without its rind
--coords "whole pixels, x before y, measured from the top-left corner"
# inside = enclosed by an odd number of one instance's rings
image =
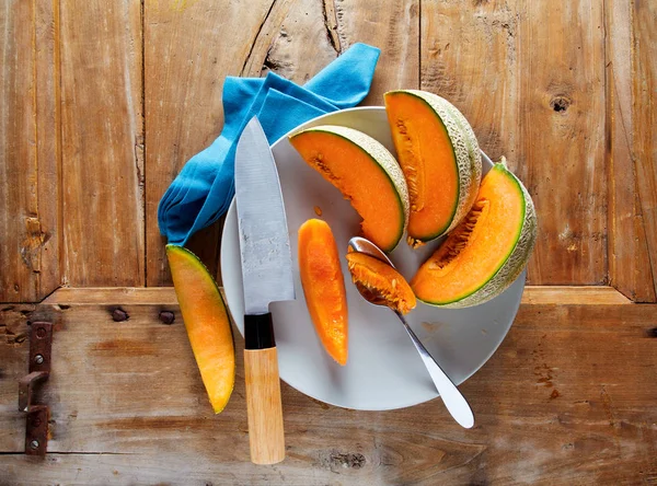
[[[447,230],[457,211],[459,174],[452,142],[436,112],[420,97],[387,93],[385,111],[408,185],[408,235],[433,240]]]

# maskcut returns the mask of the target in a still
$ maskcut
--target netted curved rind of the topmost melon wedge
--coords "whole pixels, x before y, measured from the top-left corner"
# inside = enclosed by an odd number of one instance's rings
[[[417,239],[426,243],[453,230],[472,208],[482,178],[482,154],[476,136],[463,114],[443,97],[420,90],[397,90],[385,94],[410,94],[425,102],[440,119],[452,144],[459,174],[459,198],[447,228],[429,236]]]

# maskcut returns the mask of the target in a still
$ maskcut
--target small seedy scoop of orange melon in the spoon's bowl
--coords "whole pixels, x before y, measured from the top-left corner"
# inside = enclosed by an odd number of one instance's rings
[[[406,279],[393,267],[365,253],[347,253],[354,284],[367,288],[373,297],[382,298],[388,306],[407,314],[417,300]]]

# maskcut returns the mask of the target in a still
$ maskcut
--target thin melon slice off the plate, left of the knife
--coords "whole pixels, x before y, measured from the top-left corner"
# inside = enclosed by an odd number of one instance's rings
[[[216,414],[235,383],[235,351],[223,299],[205,265],[188,250],[166,245],[173,287],[200,378]]]

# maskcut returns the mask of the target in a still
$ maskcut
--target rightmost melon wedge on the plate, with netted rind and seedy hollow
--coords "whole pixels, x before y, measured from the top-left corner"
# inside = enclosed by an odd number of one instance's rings
[[[484,303],[520,275],[535,239],[531,197],[503,158],[482,181],[468,216],[422,265],[411,287],[433,305]]]

